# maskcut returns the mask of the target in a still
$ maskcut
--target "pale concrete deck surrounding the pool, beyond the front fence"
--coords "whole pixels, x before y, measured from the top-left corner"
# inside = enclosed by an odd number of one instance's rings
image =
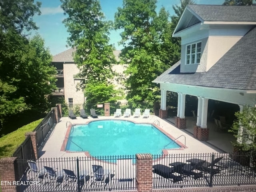
[[[67,127],[66,124],[67,122],[71,122],[72,124],[86,124],[92,120],[110,120],[110,119],[118,119],[118,120],[129,120],[133,122],[138,122],[138,123],[158,123],[159,121],[159,126],[164,132],[167,134],[170,134],[172,137],[177,138],[180,135],[184,135],[186,137],[186,148],[182,150],[168,150],[169,154],[191,154],[191,153],[212,153],[212,152],[224,152],[224,150],[228,151],[230,149],[230,146],[228,148],[224,147],[222,149],[222,146],[227,146],[228,142],[226,139],[221,139],[218,142],[215,142],[217,144],[216,148],[213,147],[211,144],[211,138],[212,135],[209,137],[210,140],[208,142],[201,142],[197,139],[195,139],[192,134],[191,130],[193,125],[193,122],[190,122],[191,119],[187,120],[187,129],[186,130],[180,130],[174,126],[172,123],[172,119],[161,119],[158,116],[151,115],[149,118],[134,118],[129,117],[129,118],[114,118],[113,116],[110,117],[105,117],[105,116],[99,116],[98,118],[88,118],[88,119],[82,119],[80,117],[77,117],[76,119],[70,119],[68,117],[62,117],[60,119],[60,122],[56,124],[55,128],[52,129],[52,131],[48,134],[48,137],[46,138],[44,144],[41,146],[39,150],[39,156],[40,158],[64,158],[64,157],[83,157],[86,156],[87,154],[85,152],[66,152],[66,151],[61,151],[63,141],[66,136],[66,131]],[[188,123],[189,122],[189,123]],[[217,133],[217,136],[220,134]],[[229,134],[230,135],[230,134]],[[184,137],[180,137],[178,139],[179,142],[182,144],[185,144],[185,139]],[[223,143],[226,142],[226,143]],[[219,144],[219,145],[218,145]],[[230,152],[230,151],[228,151]],[[108,155],[108,154],[106,154]],[[128,154],[130,155],[130,154]]]

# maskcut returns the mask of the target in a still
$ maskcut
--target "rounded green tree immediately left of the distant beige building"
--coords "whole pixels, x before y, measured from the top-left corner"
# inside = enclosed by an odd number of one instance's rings
[[[25,98],[28,106],[46,110],[47,95],[56,88],[56,69],[52,66],[52,56],[49,48],[44,45],[44,39],[36,34],[25,46],[26,52],[17,66],[16,76],[20,79],[16,83],[20,96]]]

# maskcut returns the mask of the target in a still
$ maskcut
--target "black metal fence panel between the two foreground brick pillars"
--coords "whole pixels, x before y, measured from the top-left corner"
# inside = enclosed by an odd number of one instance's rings
[[[18,160],[20,192],[136,189],[135,156]]]

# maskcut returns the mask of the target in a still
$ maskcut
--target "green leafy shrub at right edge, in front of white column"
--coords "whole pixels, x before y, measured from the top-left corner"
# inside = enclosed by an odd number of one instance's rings
[[[238,142],[233,143],[242,151],[256,152],[256,108],[245,106],[242,112],[236,112],[237,118],[232,125],[230,132],[238,138]]]

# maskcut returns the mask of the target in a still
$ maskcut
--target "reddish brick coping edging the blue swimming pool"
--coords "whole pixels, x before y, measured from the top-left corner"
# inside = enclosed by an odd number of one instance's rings
[[[63,142],[62,142],[62,146],[61,146],[61,148],[60,148],[60,151],[64,151],[64,152],[67,152],[67,153],[72,153],[72,152],[81,152],[81,153],[84,153],[87,157],[91,157],[91,155],[90,155],[90,153],[89,153],[89,151],[69,151],[69,150],[65,150],[66,149],[66,145],[67,145],[67,143],[68,143],[68,138],[69,138],[69,135],[70,135],[70,131],[71,131],[71,128],[72,128],[72,126],[76,126],[76,125],[86,125],[86,124],[89,124],[90,122],[94,122],[94,121],[104,121],[104,120],[106,120],[106,119],[93,119],[93,120],[90,120],[90,121],[88,121],[88,122],[84,122],[84,123],[76,123],[76,124],[69,124],[68,125],[68,128],[67,128],[67,131],[66,131],[66,134],[65,134],[65,137],[64,137],[64,140],[63,140]],[[118,120],[118,119],[116,119],[116,118],[110,118],[110,119],[107,119],[107,120]],[[163,130],[160,126],[158,126],[157,124],[155,124],[155,123],[150,123],[150,122],[135,122],[135,121],[133,121],[133,120],[123,120],[123,119],[121,119],[122,121],[129,121],[129,122],[132,122],[132,123],[134,123],[134,124],[151,124],[151,125],[153,125],[154,127],[156,127],[158,130],[160,130],[165,136],[167,136],[168,138],[170,138],[171,140],[175,140],[175,138],[172,136],[172,135],[170,135],[170,134],[168,134],[165,130]],[[182,142],[180,142],[180,141],[178,141],[178,140],[176,140],[176,141],[174,141],[174,142],[176,142],[179,146],[180,146],[180,148],[174,148],[174,149],[162,149],[162,154],[163,155],[167,155],[167,154],[169,154],[168,153],[168,151],[169,150],[171,150],[171,151],[173,151],[173,150],[184,150],[185,148],[188,148],[187,146],[185,146],[184,144],[182,144]]]

